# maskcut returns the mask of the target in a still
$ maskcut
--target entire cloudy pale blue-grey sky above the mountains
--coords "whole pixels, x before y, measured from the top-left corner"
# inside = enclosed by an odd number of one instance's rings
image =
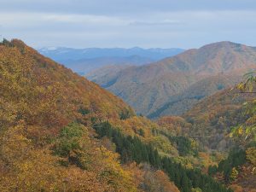
[[[255,0],[0,0],[0,37],[42,47],[256,46]]]

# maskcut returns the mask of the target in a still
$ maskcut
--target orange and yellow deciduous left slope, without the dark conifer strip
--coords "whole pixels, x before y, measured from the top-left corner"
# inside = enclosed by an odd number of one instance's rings
[[[0,44],[0,86],[2,191],[137,189],[89,126],[132,115],[118,97],[20,40]]]

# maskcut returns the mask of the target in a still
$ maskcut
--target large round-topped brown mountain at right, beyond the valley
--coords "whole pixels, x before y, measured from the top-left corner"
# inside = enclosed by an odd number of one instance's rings
[[[108,79],[112,82],[114,79],[114,83],[105,88],[121,96],[137,113],[148,115],[196,82],[206,79],[207,86],[211,84],[207,78],[219,76],[222,80],[224,77],[232,79],[230,85],[234,85],[244,73],[255,67],[254,47],[224,41],[207,44],[200,49],[189,49],[152,64],[129,67],[115,76],[108,77],[106,73],[104,84],[108,84]],[[90,80],[102,85],[100,78]],[[209,91],[206,96],[212,93]]]

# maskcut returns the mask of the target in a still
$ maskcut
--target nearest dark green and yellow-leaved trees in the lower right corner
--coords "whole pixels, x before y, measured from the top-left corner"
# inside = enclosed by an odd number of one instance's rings
[[[254,77],[254,83],[255,83]],[[253,94],[253,90],[250,91]],[[219,181],[229,184],[235,191],[255,191],[256,186],[256,101],[244,104],[242,123],[232,127],[230,137],[236,145],[228,157],[217,166],[209,166],[208,173]],[[246,115],[246,116],[245,116]]]

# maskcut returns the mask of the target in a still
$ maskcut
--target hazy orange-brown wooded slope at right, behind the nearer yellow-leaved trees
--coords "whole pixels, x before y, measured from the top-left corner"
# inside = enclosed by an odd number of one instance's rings
[[[251,93],[221,90],[197,102],[182,117],[165,116],[157,122],[170,131],[194,138],[201,148],[228,151],[235,144],[229,136],[232,129],[255,122],[254,109],[248,109],[255,108],[253,100],[255,96]]]

